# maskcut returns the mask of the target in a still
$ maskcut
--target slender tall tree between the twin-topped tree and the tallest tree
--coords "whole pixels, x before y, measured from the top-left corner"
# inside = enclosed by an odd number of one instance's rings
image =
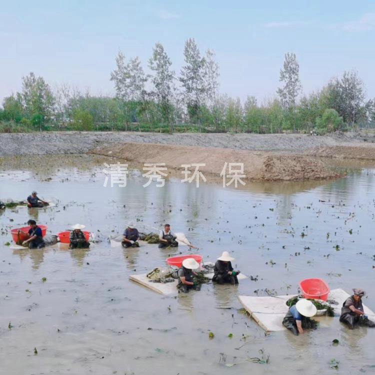
[[[156,43],[152,49],[152,56],[148,60],[148,67],[153,72],[151,82],[154,86],[154,96],[161,111],[164,121],[171,123],[173,106],[171,105],[173,93],[174,71],[170,69],[172,62],[166,54],[161,43]]]

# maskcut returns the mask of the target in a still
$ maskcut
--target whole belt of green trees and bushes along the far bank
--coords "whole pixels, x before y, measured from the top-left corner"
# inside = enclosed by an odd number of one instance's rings
[[[272,99],[254,96],[241,102],[219,92],[214,53],[201,54],[194,39],[184,47],[185,65],[178,76],[163,46],[156,43],[145,74],[138,57],[118,52],[108,74],[116,95],[93,96],[63,85],[52,91],[32,72],[22,77],[22,90],[5,97],[0,132],[34,130],[137,130],[317,133],[375,127],[375,99],[366,99],[355,71],[333,77],[320,91],[302,94],[299,65],[286,53],[280,87]],[[150,87],[146,89],[146,87]]]

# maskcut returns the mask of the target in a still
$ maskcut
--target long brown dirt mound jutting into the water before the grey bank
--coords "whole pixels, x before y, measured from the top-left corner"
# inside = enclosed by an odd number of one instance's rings
[[[124,159],[134,164],[165,163],[167,168],[183,170],[182,164],[204,163],[203,174],[220,175],[225,162],[243,163],[248,180],[326,179],[340,175],[320,160],[307,156],[273,155],[229,148],[164,145],[153,143],[115,143],[98,146],[91,153]],[[129,165],[131,166],[131,165]],[[228,170],[226,170],[228,173]],[[179,174],[183,177],[182,174]]]

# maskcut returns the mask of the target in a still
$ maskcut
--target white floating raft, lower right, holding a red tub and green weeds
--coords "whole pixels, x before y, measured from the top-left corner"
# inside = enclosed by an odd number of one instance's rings
[[[265,331],[280,331],[286,329],[282,325],[288,306],[286,301],[295,295],[276,295],[269,297],[257,297],[239,295],[238,299],[245,310],[251,317],[265,330]],[[333,299],[338,304],[331,304],[336,313],[341,312],[341,306],[347,297],[350,295],[343,289],[333,289],[328,294],[328,299]],[[363,305],[364,312],[368,315],[374,313],[365,305]]]

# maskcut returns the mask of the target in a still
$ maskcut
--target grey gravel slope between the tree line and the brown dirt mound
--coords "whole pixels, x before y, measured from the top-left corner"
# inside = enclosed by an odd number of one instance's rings
[[[140,142],[201,147],[247,149],[308,154],[320,147],[367,144],[354,133],[332,136],[305,134],[161,134],[139,132],[33,132],[1,133],[0,156],[22,154],[81,153],[112,142]],[[372,140],[372,139],[367,139]]]

